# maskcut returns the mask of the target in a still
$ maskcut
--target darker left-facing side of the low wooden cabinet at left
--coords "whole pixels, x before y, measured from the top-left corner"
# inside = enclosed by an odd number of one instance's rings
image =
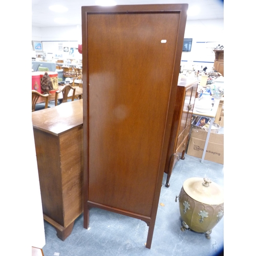
[[[63,226],[59,138],[37,129],[33,130],[42,198],[42,211],[49,218]]]

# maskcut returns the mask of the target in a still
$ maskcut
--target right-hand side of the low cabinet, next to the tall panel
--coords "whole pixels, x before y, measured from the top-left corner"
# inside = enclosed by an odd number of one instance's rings
[[[63,211],[65,226],[83,211],[83,130],[82,125],[60,135]]]

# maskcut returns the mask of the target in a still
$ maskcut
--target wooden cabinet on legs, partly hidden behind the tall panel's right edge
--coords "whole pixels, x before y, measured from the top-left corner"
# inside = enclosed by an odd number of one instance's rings
[[[198,80],[181,80],[178,83],[175,100],[175,111],[170,131],[168,153],[164,172],[167,174],[166,187],[169,187],[169,179],[175,163],[182,159],[187,147],[189,129],[194,109]]]

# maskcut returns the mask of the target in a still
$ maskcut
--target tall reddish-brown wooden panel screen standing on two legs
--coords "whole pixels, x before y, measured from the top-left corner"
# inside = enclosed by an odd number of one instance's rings
[[[146,222],[151,248],[187,4],[82,7],[84,228],[90,207]]]

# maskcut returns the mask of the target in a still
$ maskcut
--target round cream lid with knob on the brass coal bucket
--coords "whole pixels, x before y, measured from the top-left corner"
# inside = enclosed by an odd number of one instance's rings
[[[184,181],[183,189],[189,197],[200,203],[209,205],[224,203],[222,187],[208,178],[189,178]]]

